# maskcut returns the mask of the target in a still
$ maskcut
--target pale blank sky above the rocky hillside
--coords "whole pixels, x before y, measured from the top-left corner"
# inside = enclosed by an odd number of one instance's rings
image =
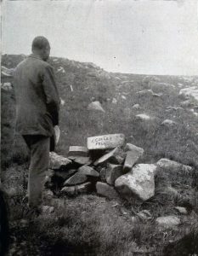
[[[198,0],[3,0],[2,14],[3,54],[42,35],[51,55],[106,71],[198,74]]]

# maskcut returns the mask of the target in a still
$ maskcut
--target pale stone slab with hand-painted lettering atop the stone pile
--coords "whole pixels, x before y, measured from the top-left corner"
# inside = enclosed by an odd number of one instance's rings
[[[124,141],[125,136],[122,133],[88,137],[88,149],[116,148],[122,146]]]

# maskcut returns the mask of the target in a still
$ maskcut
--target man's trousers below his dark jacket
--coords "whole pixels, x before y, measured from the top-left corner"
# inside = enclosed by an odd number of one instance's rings
[[[31,152],[31,163],[28,177],[28,203],[29,207],[42,206],[42,190],[45,173],[48,171],[50,138],[42,135],[23,135],[25,143]]]

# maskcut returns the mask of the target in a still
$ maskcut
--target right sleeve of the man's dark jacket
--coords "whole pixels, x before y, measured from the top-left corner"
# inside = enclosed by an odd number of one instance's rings
[[[55,83],[53,67],[44,67],[42,73],[42,87],[46,96],[48,113],[52,117],[53,125],[59,125],[59,91]]]

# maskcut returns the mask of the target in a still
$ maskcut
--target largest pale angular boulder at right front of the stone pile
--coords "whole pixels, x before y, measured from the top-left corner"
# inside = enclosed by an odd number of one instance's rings
[[[146,201],[155,195],[155,172],[155,165],[139,164],[134,166],[130,172],[116,179],[116,189],[128,201],[133,198]]]

